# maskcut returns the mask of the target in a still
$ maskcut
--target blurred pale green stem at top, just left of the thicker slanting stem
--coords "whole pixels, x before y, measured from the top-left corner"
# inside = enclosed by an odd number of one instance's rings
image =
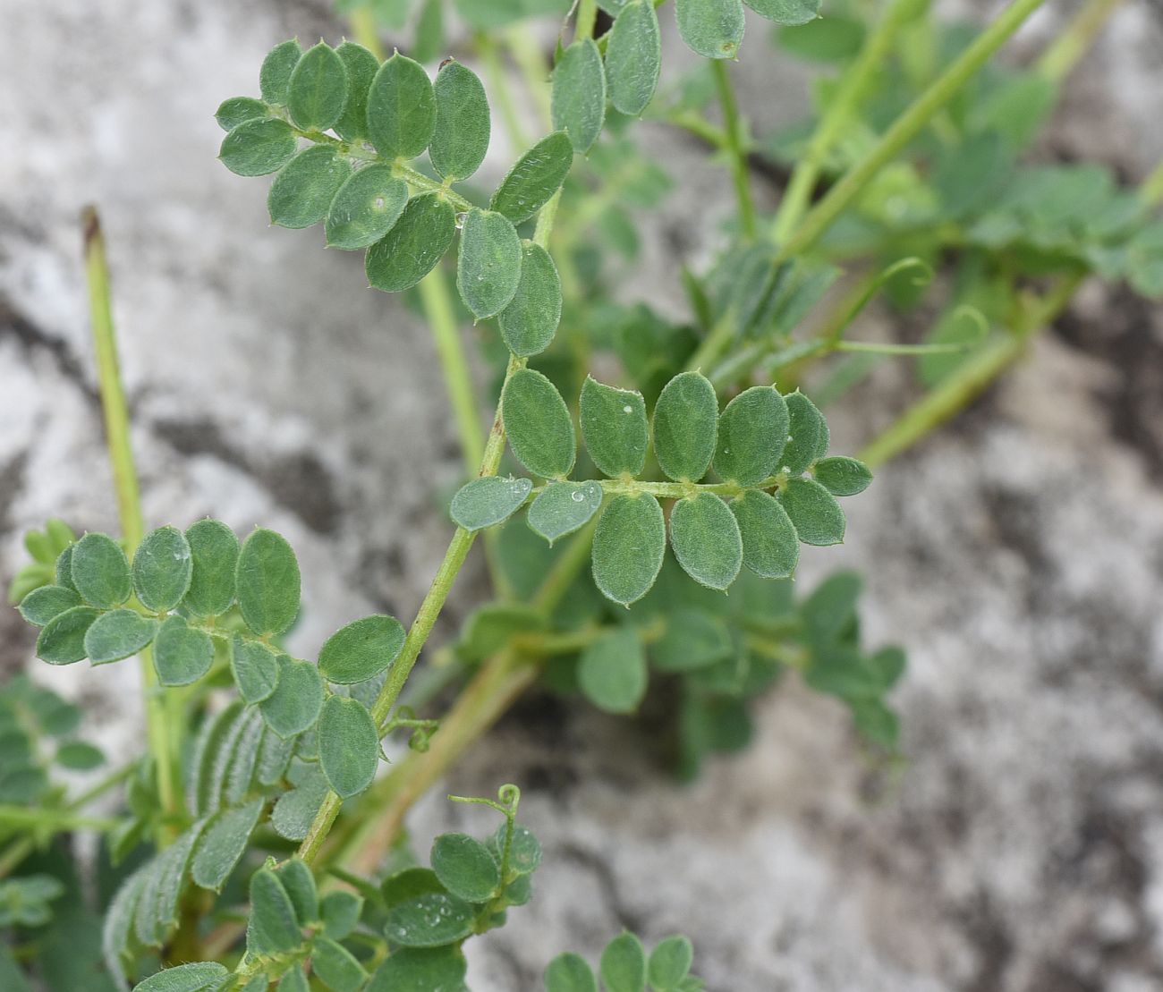
[[[897,31],[915,7],[916,0],[893,0],[868,36],[861,53],[844,74],[839,91],[820,117],[804,157],[797,163],[791,181],[789,181],[784,197],[779,201],[779,209],[772,227],[772,240],[776,244],[785,241],[795,229],[795,224],[799,223],[804,210],[807,209],[808,200],[820,178],[820,171],[823,169],[828,154],[866,92],[865,84],[873,72],[883,69]]]

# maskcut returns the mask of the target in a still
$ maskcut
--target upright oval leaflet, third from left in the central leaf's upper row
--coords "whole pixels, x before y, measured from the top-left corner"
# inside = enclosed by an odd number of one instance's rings
[[[654,412],[655,456],[675,481],[697,483],[711,468],[719,434],[719,400],[700,372],[666,383]]]

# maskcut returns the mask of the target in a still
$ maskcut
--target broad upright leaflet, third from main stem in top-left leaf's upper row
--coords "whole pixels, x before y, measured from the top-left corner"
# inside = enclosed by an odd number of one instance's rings
[[[385,158],[415,158],[436,127],[436,98],[419,62],[397,52],[368,91],[368,137]]]

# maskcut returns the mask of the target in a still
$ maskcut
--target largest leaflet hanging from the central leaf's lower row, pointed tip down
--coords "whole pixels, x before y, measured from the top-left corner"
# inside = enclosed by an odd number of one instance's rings
[[[649,493],[611,500],[593,535],[593,580],[602,595],[629,606],[658,578],[666,552],[662,507]]]

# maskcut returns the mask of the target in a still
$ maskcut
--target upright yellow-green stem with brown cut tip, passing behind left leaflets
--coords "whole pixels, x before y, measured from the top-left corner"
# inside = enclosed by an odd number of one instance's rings
[[[101,409],[105,414],[105,435],[113,466],[113,481],[117,494],[117,513],[121,519],[121,536],[126,552],[133,556],[145,533],[142,514],[137,470],[134,465],[133,447],[129,442],[129,407],[121,385],[121,369],[117,362],[116,331],[113,324],[110,304],[109,269],[105,254],[105,237],[101,221],[94,207],[86,207],[81,214],[85,251],[85,274],[88,281],[90,317],[93,323],[93,345],[97,352],[98,387]],[[162,804],[162,821],[180,812],[181,794],[177,785],[178,735],[181,731],[181,714],[174,712],[180,700],[162,692],[149,648],[140,654],[142,684],[145,697],[145,729],[150,752],[157,768],[157,791]],[[171,830],[158,828],[158,844],[164,845]]]

